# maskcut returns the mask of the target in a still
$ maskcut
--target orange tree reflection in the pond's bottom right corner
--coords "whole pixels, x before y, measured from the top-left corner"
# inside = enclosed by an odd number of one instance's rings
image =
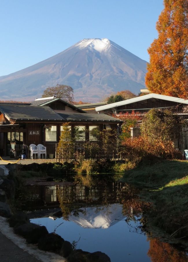
[[[161,242],[158,238],[149,238],[150,249],[148,256],[152,262],[186,262],[188,257],[185,252],[176,249],[169,243]]]

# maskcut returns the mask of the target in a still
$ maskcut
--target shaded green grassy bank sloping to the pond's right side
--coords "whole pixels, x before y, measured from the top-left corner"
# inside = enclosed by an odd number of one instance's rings
[[[145,215],[152,224],[178,239],[188,238],[188,161],[163,160],[139,165],[123,180],[143,190],[141,198],[153,202]]]

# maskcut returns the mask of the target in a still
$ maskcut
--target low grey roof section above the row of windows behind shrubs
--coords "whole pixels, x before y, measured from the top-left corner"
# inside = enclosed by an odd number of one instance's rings
[[[63,119],[67,121],[109,121],[109,122],[123,122],[120,119],[108,116],[106,114],[82,114],[82,113],[59,113]]]

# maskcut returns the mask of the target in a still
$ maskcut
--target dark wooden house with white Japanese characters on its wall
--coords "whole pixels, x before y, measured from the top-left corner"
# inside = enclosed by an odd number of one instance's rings
[[[85,127],[80,142],[94,141],[91,130],[117,129],[122,121],[106,114],[89,114],[60,98],[38,98],[31,103],[0,103],[0,156],[19,155],[23,144],[43,144],[47,154],[55,154],[62,124],[69,122],[71,133]]]

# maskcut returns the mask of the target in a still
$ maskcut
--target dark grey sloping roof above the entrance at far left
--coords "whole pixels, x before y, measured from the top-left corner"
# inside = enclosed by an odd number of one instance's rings
[[[0,112],[10,121],[29,120],[29,121],[60,121],[62,117],[52,110],[49,106],[38,107],[30,105],[2,105]]]

